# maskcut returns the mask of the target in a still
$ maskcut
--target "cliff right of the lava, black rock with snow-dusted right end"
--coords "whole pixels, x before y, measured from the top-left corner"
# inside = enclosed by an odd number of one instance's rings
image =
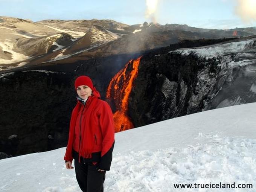
[[[134,125],[256,102],[255,42],[143,56],[129,98]]]

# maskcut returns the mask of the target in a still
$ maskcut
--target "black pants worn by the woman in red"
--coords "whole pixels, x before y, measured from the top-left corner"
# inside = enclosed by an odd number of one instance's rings
[[[98,171],[97,164],[84,162],[80,157],[78,162],[78,153],[73,151],[75,159],[76,180],[83,192],[103,192],[103,183],[105,181],[106,171]]]

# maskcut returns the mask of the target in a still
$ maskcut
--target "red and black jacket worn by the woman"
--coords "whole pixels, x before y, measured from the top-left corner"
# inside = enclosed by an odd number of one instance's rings
[[[114,122],[108,103],[94,95],[88,97],[85,105],[78,101],[71,115],[64,160],[73,160],[72,150],[75,150],[84,161],[99,162],[98,168],[108,171],[113,148]]]

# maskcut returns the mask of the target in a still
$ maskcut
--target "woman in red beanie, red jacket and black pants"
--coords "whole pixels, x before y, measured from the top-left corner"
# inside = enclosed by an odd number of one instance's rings
[[[106,171],[110,170],[114,148],[113,113],[88,76],[75,80],[78,94],[72,111],[66,168],[73,169],[75,160],[76,180],[83,192],[103,192]]]

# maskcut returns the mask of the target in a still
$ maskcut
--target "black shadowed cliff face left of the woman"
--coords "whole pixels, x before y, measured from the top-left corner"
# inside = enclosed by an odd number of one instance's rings
[[[0,151],[21,155],[63,146],[75,103],[70,79],[67,73],[42,71],[0,79]]]

